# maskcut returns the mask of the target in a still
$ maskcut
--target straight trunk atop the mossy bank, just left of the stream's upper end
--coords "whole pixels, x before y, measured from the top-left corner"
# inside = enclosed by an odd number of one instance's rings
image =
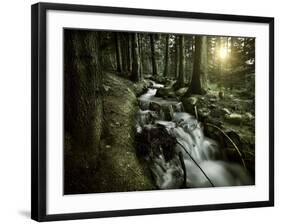
[[[139,57],[139,44],[138,44],[138,34],[132,34],[132,80],[137,82],[140,81],[140,57]]]

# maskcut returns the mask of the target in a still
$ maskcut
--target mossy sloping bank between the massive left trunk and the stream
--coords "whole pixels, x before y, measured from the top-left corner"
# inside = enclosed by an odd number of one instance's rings
[[[135,152],[136,95],[145,83],[133,84],[116,75],[104,78],[104,132],[92,192],[152,190],[150,171]],[[98,184],[97,184],[98,183]]]

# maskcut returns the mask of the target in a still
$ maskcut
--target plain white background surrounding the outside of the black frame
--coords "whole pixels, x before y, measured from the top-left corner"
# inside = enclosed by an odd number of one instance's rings
[[[51,0],[50,0],[51,1]],[[2,1],[0,7],[0,223],[30,220],[30,5]],[[183,10],[275,17],[275,180],[274,208],[76,220],[60,223],[279,223],[280,207],[280,6],[278,0],[68,0],[62,3]]]

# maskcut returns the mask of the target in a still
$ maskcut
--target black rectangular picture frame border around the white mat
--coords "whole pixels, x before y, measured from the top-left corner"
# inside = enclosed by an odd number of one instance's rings
[[[177,17],[217,21],[269,24],[269,200],[243,203],[160,207],[70,214],[46,214],[46,13],[48,10],[100,12],[111,14]],[[163,11],[136,8],[102,7],[73,4],[37,3],[32,5],[32,182],[31,218],[37,221],[178,213],[204,210],[267,207],[274,205],[274,18],[240,15]]]

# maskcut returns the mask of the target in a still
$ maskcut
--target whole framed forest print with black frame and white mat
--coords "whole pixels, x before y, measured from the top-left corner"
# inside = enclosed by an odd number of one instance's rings
[[[274,205],[274,19],[32,6],[32,218]]]

